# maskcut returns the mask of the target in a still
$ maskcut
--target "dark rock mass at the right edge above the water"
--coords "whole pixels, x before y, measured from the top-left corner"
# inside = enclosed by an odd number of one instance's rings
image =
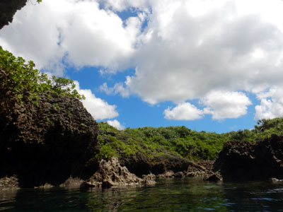
[[[229,141],[214,163],[224,180],[255,180],[283,178],[283,137],[249,143]]]

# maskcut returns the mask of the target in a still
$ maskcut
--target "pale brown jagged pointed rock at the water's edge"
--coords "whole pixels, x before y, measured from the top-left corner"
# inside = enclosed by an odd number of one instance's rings
[[[90,187],[120,187],[137,184],[154,184],[149,179],[141,179],[122,167],[117,158],[108,162],[101,160],[98,171],[86,182]]]

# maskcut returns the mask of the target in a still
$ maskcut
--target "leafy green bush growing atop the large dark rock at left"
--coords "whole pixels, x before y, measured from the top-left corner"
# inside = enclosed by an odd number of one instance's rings
[[[79,100],[84,99],[75,89],[74,81],[67,78],[48,78],[45,73],[35,69],[33,61],[25,62],[22,57],[14,57],[11,52],[0,47],[1,93],[6,96],[16,95],[18,100],[36,102],[38,94],[50,91],[59,95],[67,95]]]

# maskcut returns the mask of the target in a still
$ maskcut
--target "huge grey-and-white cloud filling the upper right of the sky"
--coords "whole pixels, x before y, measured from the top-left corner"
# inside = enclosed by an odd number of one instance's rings
[[[200,14],[192,1],[153,8],[127,85],[133,93],[155,104],[281,83],[282,30],[253,8],[239,16],[238,1],[212,2]]]

